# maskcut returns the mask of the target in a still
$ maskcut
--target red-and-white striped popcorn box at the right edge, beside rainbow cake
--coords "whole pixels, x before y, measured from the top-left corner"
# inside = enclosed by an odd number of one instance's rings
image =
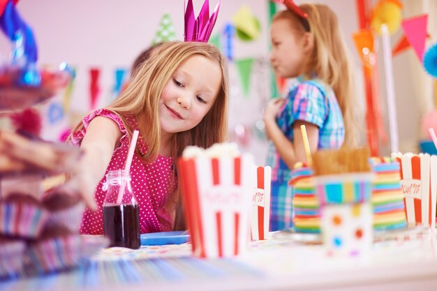
[[[436,227],[437,156],[392,154],[401,164],[401,188],[408,224]]]

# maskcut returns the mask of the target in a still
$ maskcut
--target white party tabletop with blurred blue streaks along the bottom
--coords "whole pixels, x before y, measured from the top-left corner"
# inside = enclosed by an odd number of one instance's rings
[[[271,232],[243,255],[200,259],[191,244],[101,249],[77,269],[0,282],[0,290],[437,290],[437,236],[381,239],[363,258]]]

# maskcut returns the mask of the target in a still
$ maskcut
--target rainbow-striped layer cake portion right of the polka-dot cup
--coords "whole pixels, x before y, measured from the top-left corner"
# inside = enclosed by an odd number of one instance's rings
[[[371,203],[374,230],[399,230],[407,226],[400,184],[399,163],[392,158],[371,158],[373,181]]]

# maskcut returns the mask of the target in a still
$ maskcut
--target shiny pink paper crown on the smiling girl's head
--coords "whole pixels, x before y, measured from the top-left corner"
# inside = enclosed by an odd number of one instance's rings
[[[218,8],[220,8],[220,1],[218,1],[216,8],[209,17],[209,0],[205,0],[202,9],[200,9],[197,18],[194,17],[193,1],[188,0],[188,5],[185,10],[185,41],[202,41],[207,42],[211,36],[214,24],[216,24]]]

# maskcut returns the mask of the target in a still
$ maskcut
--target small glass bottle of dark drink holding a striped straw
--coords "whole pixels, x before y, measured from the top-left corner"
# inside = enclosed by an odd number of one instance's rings
[[[103,234],[110,246],[140,248],[140,212],[126,170],[111,170],[106,174],[106,193],[103,202]]]

